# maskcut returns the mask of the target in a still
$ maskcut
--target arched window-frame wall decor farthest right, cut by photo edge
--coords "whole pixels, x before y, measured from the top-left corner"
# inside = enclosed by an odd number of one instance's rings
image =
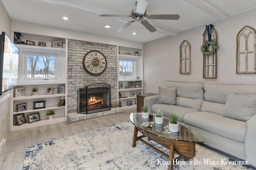
[[[256,73],[256,31],[250,26],[236,35],[236,73]]]

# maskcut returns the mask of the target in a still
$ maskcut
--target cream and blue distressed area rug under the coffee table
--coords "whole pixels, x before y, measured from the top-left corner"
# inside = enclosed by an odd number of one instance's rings
[[[167,170],[168,159],[144,143],[132,147],[130,121],[28,147],[24,170]],[[168,149],[149,141],[158,149]],[[177,156],[177,155],[176,155]],[[194,159],[176,162],[175,170],[244,170],[244,165],[196,145]]]

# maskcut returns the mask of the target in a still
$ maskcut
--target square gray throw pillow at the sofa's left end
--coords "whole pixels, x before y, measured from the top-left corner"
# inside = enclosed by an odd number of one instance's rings
[[[176,105],[176,87],[158,87],[158,98],[156,103]]]

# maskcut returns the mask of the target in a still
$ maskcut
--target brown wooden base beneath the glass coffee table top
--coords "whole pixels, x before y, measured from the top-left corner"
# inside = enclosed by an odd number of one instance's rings
[[[142,133],[143,135],[137,136],[138,131]],[[167,149],[170,149],[169,155],[162,152],[161,150],[157,149],[156,147],[150,145],[146,141],[144,141],[142,138],[148,137],[149,140],[155,141],[156,143],[166,147]],[[166,158],[169,159],[169,165],[168,170],[173,170],[173,162],[172,160],[180,160],[184,158],[184,160],[188,160],[188,158],[193,158],[196,153],[196,144],[192,142],[183,142],[183,141],[176,141],[171,139],[166,139],[163,137],[159,137],[156,135],[152,135],[150,133],[147,133],[146,131],[142,131],[141,129],[138,129],[136,126],[134,126],[134,134],[133,134],[133,141],[132,141],[132,147],[136,147],[136,142],[141,141],[144,144],[148,145],[148,147],[156,150],[156,152],[162,154]],[[174,154],[178,154],[179,156],[177,158],[174,158]]]

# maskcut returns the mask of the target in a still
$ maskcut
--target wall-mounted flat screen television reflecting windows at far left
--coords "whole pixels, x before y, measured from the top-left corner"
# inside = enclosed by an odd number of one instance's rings
[[[5,32],[0,35],[0,95],[18,85],[19,49]]]

